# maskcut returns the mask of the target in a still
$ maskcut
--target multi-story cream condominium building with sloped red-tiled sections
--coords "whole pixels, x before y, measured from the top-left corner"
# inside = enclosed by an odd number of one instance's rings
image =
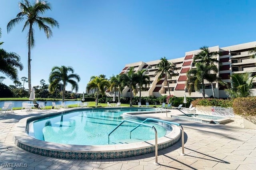
[[[252,72],[253,75],[256,75],[256,66],[255,62],[256,59],[251,59],[250,55],[248,53],[249,50],[256,47],[256,42],[250,42],[250,43],[243,43],[238,45],[232,45],[229,47],[209,47],[210,51],[218,51],[219,55],[216,56],[216,59],[220,61],[219,64],[219,71],[218,75],[222,78],[222,81],[224,82],[230,82],[230,75],[234,73],[245,73],[245,72]],[[200,52],[200,49],[194,50],[194,51],[188,51],[185,53],[184,57],[176,58],[176,59],[170,59],[169,62],[173,62],[176,64],[176,71],[175,73],[178,73],[177,76],[174,77],[167,77],[168,83],[169,83],[169,89],[171,95],[177,96],[177,97],[183,97],[184,94],[189,97],[202,97],[202,93],[195,91],[192,92],[190,95],[186,90],[186,72],[190,70],[192,67],[192,61],[194,56]],[[160,62],[160,60],[156,61],[148,61],[148,62],[136,62],[136,63],[130,63],[126,64],[125,67],[120,72],[121,74],[125,74],[129,71],[131,67],[134,67],[135,73],[139,70],[146,69],[146,74],[150,76],[150,85],[148,85],[146,88],[144,88],[144,91],[142,91],[142,96],[156,96],[160,97],[163,95],[169,95],[168,92],[168,86],[167,83],[164,81],[164,77],[161,78],[158,81],[159,74],[156,74],[156,71],[158,70],[157,64]],[[212,87],[211,83],[208,81],[204,81],[205,83],[205,96],[211,97],[212,94]],[[224,91],[226,87],[223,87],[217,82],[213,83],[215,96],[217,98],[226,98],[227,95]],[[122,91],[121,96],[123,97],[129,97],[130,96],[130,89],[129,87],[125,87]],[[254,95],[256,95],[256,79],[254,79],[254,89],[253,89]],[[113,92],[107,92],[108,96],[112,96]],[[116,93],[118,94],[118,93]],[[139,92],[137,96],[139,95]]]

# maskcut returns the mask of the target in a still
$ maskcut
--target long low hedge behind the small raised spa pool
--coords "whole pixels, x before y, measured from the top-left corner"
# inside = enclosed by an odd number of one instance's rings
[[[232,99],[196,99],[191,102],[193,106],[216,106],[216,107],[232,107]]]

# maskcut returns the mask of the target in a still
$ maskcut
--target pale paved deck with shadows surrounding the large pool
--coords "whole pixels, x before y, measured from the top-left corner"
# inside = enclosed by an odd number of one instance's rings
[[[12,141],[13,127],[24,117],[59,111],[15,110],[14,113],[0,113],[0,169],[28,170],[165,170],[165,169],[237,169],[256,168],[256,130],[242,127],[240,119],[226,125],[213,125],[170,118],[171,113],[144,114],[140,117],[152,117],[180,123],[185,132],[185,156],[181,153],[181,142],[158,151],[158,163],[154,165],[154,153],[128,158],[102,160],[59,159],[33,154],[18,148]],[[65,109],[69,110],[69,109]],[[7,167],[4,167],[7,166]],[[15,167],[16,166],[16,167]],[[17,168],[17,166],[26,166]],[[15,167],[15,168],[14,168]]]

